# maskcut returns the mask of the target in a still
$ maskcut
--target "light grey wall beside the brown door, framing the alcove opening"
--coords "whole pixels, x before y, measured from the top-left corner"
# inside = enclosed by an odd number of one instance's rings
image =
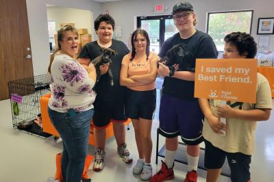
[[[34,75],[47,73],[49,65],[49,33],[47,29],[47,4],[59,7],[90,10],[93,16],[101,14],[101,3],[91,0],[26,0],[29,36],[32,46]],[[94,35],[92,33],[92,35]]]

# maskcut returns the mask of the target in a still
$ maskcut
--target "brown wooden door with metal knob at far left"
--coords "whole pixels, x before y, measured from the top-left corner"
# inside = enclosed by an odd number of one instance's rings
[[[3,0],[0,6],[0,100],[10,98],[8,82],[34,77],[25,0]]]

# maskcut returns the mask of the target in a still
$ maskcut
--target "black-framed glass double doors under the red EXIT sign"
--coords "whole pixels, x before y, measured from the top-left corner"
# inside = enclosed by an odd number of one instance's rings
[[[150,39],[150,51],[157,54],[164,41],[178,32],[172,15],[137,16],[137,27],[147,31]]]

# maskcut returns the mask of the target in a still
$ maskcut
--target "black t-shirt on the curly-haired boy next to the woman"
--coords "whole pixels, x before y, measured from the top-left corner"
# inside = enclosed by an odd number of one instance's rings
[[[125,87],[120,86],[120,70],[123,57],[129,53],[126,45],[119,40],[112,40],[110,49],[117,51],[118,55],[112,55],[112,64],[110,69],[113,75],[114,86],[110,84],[110,77],[108,73],[102,75],[100,80],[95,85],[95,92],[97,92],[96,100],[112,102],[121,101],[125,96]],[[89,58],[94,60],[96,57],[102,54],[101,47],[97,41],[89,42],[85,44],[78,57]]]

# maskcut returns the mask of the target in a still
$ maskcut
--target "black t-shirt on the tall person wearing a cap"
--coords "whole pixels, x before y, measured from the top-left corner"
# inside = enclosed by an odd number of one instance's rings
[[[187,39],[182,39],[179,33],[171,38],[168,38],[160,49],[159,56],[164,57],[176,44],[186,44],[186,52],[188,58],[184,61],[192,70],[195,69],[196,58],[216,58],[218,51],[212,38],[202,31],[197,30],[193,36]],[[179,70],[186,70],[179,68]],[[179,99],[195,99],[194,98],[194,81],[186,81],[183,79],[176,79],[173,77],[164,77],[163,93],[169,94]]]

